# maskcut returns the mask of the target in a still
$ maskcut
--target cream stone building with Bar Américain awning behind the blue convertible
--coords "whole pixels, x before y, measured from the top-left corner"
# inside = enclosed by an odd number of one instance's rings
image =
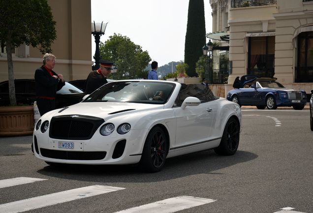
[[[313,0],[210,0],[210,4],[213,33],[207,37],[229,46],[225,92],[237,76],[257,74],[310,93]],[[229,40],[222,39],[226,35]]]

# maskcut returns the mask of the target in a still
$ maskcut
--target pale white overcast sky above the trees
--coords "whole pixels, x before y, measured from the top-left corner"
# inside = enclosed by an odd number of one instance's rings
[[[189,0],[91,0],[92,22],[108,22],[100,41],[105,42],[114,33],[127,36],[148,51],[160,67],[184,61],[188,3]],[[211,33],[209,0],[204,0],[204,12],[206,33]],[[94,37],[92,42],[94,55]]]

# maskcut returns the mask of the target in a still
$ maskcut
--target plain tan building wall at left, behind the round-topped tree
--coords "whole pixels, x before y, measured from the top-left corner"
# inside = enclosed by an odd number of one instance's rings
[[[57,22],[57,39],[52,54],[57,57],[54,69],[66,81],[86,79],[92,70],[91,0],[48,0]],[[13,69],[15,79],[34,79],[35,70],[42,66],[41,52],[31,46],[15,48]],[[0,47],[0,82],[8,80],[5,47]]]

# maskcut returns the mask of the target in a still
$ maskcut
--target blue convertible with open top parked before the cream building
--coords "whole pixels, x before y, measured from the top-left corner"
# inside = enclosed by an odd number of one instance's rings
[[[227,93],[227,100],[240,106],[256,106],[258,109],[276,109],[292,106],[301,110],[307,104],[307,94],[302,90],[286,89],[277,78],[243,75],[235,79],[234,89]]]

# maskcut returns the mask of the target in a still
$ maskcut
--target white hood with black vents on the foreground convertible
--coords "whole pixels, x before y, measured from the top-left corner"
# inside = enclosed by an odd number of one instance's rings
[[[136,103],[79,103],[61,109],[56,109],[46,113],[44,116],[61,115],[87,115],[100,118],[118,116],[129,113],[138,113],[153,109],[163,109],[164,105],[136,104]]]

